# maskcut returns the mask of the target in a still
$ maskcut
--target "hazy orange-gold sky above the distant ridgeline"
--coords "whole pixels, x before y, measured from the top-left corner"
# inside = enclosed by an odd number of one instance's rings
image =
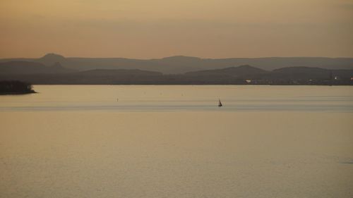
[[[0,58],[353,57],[353,0],[0,0]]]

